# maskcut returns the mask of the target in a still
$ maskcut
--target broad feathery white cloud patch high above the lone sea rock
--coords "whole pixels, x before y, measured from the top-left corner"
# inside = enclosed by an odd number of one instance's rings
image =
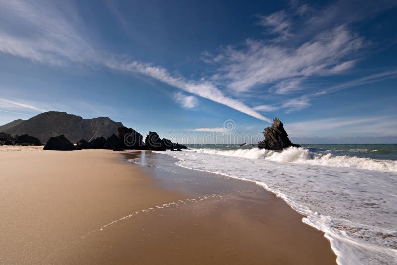
[[[217,78],[244,92],[289,78],[331,75],[354,66],[350,56],[363,46],[363,39],[346,25],[321,32],[296,48],[247,39],[243,49],[228,46],[222,51],[222,74]]]

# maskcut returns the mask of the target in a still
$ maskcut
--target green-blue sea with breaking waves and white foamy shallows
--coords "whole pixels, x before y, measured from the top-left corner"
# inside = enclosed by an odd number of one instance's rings
[[[397,264],[397,144],[188,146],[176,165],[253,181],[325,232],[337,263]]]

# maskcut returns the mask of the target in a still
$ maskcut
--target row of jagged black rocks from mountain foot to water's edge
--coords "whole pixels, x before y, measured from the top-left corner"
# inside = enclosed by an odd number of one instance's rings
[[[143,136],[132,128],[125,126],[117,128],[118,134],[112,134],[107,139],[104,137],[97,137],[90,142],[81,139],[76,145],[71,143],[64,135],[51,137],[44,146],[45,150],[81,150],[81,149],[113,149],[120,151],[125,149],[137,150],[155,150],[165,151],[182,151],[187,148],[179,143],[173,143],[169,139],[161,139],[156,132],[149,132],[143,142]]]

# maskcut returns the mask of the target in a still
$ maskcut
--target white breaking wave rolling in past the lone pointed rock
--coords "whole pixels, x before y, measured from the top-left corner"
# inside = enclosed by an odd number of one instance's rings
[[[219,150],[219,149],[192,149],[197,153],[236,156],[251,159],[265,159],[277,162],[291,162],[310,164],[328,167],[348,167],[365,170],[374,170],[381,172],[397,173],[397,161],[378,160],[346,155],[318,154],[310,152],[308,149],[289,147],[281,152],[265,149],[237,149],[237,150]]]

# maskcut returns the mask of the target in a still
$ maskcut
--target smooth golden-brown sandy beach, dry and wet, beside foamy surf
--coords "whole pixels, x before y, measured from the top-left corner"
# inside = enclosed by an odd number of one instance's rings
[[[324,234],[254,183],[123,153],[0,147],[0,264],[335,264]]]

